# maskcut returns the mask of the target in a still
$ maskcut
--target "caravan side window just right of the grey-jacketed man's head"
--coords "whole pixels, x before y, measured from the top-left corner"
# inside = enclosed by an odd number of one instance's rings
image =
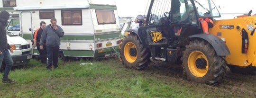
[[[82,25],[82,10],[62,10],[62,25]]]

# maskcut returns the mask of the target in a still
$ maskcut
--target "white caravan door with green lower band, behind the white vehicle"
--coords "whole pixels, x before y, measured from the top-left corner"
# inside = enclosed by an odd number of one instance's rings
[[[30,48],[33,51],[31,39],[33,39],[33,28],[32,28],[32,13],[30,11],[21,11],[19,15],[20,21],[20,36],[27,40],[30,44]]]

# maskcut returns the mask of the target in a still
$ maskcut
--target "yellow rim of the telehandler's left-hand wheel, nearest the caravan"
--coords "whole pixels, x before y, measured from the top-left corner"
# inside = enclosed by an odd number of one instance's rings
[[[131,53],[132,52],[132,53]],[[132,42],[126,43],[124,46],[124,56],[128,62],[135,62],[137,59],[137,48]]]

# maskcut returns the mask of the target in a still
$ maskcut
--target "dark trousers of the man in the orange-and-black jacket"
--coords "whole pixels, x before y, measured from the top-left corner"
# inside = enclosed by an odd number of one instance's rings
[[[41,62],[42,62],[42,63],[46,63],[46,60],[47,60],[47,56],[46,56],[46,54],[47,54],[47,52],[46,52],[46,45],[44,44],[43,47],[44,47],[43,50],[40,49],[40,44],[37,43],[37,50],[38,50],[38,52],[39,52],[39,56],[40,56]]]

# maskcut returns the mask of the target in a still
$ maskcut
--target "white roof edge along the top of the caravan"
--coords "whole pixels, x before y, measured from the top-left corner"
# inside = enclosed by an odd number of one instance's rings
[[[90,6],[110,5],[116,6],[114,0],[17,0],[14,10],[37,10],[37,9],[88,9]],[[31,6],[33,5],[33,6]]]

